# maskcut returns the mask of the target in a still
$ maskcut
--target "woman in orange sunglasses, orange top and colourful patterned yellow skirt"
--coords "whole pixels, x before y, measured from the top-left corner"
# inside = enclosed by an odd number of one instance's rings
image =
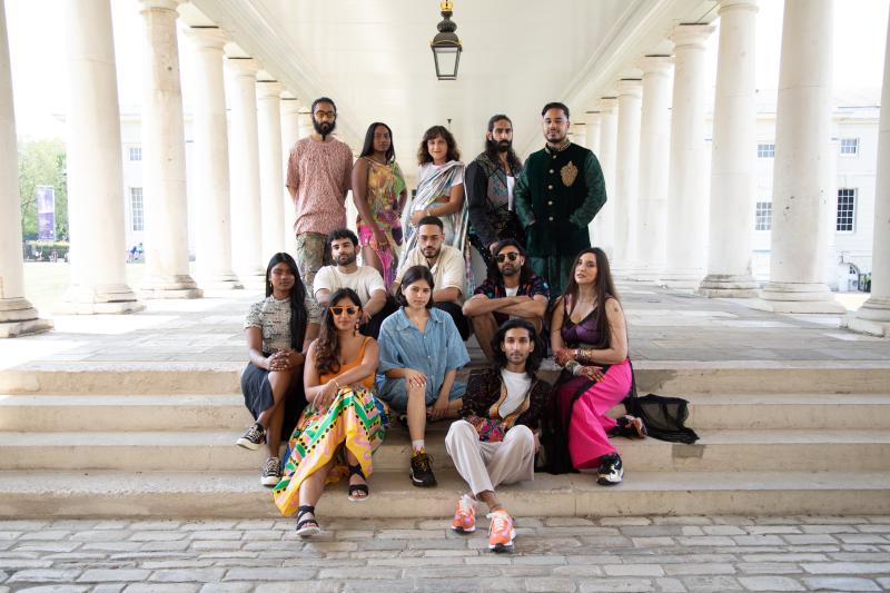
[[[358,295],[340,288],[306,355],[303,383],[309,405],[290,436],[285,475],[274,493],[281,514],[298,513],[303,537],[320,531],[315,504],[326,483],[348,475],[350,501],[369,494],[370,456],[383,442],[386,415],[372,393],[377,343],[358,333],[360,319]]]

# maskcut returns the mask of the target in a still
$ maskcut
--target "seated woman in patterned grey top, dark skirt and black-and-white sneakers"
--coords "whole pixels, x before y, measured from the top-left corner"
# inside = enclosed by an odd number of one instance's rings
[[[266,298],[255,303],[244,327],[250,362],[241,373],[244,403],[256,421],[236,444],[256,451],[263,443],[269,457],[260,483],[274,486],[281,478],[278,459],[281,439],[297,423],[306,397],[303,362],[306,347],[318,335],[320,312],[288,254],[275,254],[266,267]]]

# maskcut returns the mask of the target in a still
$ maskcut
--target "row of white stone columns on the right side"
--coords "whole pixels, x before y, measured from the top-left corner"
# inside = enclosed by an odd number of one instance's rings
[[[600,148],[612,208],[594,223],[594,245],[611,251],[617,274],[696,288],[706,297],[760,297],[753,306],[774,312],[843,310],[824,279],[834,180],[832,167],[823,164],[833,162],[837,150],[831,141],[832,4],[833,0],[787,0],[784,6],[771,276],[764,289],[756,290],[751,274],[756,0],[718,1],[710,188],[704,174],[704,48],[713,26],[674,27],[670,34],[673,58],[642,57],[634,65],[642,80],[619,80],[617,100],[601,99],[596,126],[587,122],[587,144]],[[890,75],[884,76],[887,99]],[[611,115],[614,102],[616,129]],[[862,326],[869,318],[890,323],[890,174],[881,175],[890,158],[888,102],[882,102],[883,150],[877,167],[873,293],[851,326]],[[590,138],[592,130],[599,139]],[[881,329],[872,327],[872,332]]]

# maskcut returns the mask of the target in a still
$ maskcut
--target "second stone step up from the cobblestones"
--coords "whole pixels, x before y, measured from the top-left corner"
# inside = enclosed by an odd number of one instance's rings
[[[439,423],[427,433],[437,467],[451,465]],[[235,446],[239,432],[0,433],[0,471],[257,470],[265,447]],[[654,438],[615,438],[629,472],[890,470],[890,431],[702,431],[694,445]],[[407,471],[411,441],[402,427],[387,434],[374,455],[380,471]]]

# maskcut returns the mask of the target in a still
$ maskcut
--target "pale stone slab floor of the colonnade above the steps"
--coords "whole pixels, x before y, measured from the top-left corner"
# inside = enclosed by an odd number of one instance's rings
[[[631,357],[647,362],[890,360],[890,339],[841,329],[838,316],[778,315],[739,299],[704,299],[640,283],[619,285]],[[136,315],[57,316],[56,330],[0,343],[0,369],[46,363],[246,360],[245,313],[259,294],[208,291],[196,300],[148,300]],[[888,363],[890,364],[890,363]]]

